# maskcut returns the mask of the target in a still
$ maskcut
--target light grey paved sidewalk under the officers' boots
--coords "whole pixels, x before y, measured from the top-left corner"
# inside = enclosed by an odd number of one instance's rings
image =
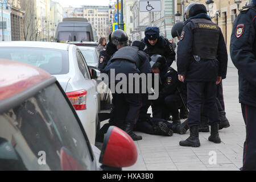
[[[123,170],[239,170],[242,167],[243,142],[246,133],[241,106],[238,103],[236,68],[228,68],[228,75],[223,81],[223,86],[226,117],[229,119],[230,127],[219,131],[222,140],[220,144],[209,142],[209,133],[200,133],[201,146],[199,148],[179,146],[180,140],[189,137],[189,130],[185,135],[174,134],[172,137],[135,132],[143,138],[135,141],[138,160],[134,166],[123,168]],[[184,119],[181,122],[183,121]],[[209,152],[211,151],[216,154],[216,164],[209,164],[212,156]]]

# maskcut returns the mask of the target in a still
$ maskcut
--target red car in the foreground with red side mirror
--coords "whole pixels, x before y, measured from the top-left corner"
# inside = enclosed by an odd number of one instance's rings
[[[102,151],[90,144],[74,107],[49,73],[0,60],[0,77],[1,171],[120,170],[136,162],[133,140],[117,127],[109,128]]]

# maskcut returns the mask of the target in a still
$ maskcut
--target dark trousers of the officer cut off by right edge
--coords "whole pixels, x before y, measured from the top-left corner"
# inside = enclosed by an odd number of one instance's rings
[[[246,140],[243,144],[243,171],[256,171],[256,107],[241,104],[246,126]]]

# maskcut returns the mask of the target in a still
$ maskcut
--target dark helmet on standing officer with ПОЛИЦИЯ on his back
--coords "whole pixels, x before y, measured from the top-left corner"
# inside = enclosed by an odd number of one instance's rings
[[[193,2],[188,5],[188,7],[185,9],[185,20],[188,20],[192,16],[198,15],[200,13],[206,13],[207,14],[207,9],[203,4]]]

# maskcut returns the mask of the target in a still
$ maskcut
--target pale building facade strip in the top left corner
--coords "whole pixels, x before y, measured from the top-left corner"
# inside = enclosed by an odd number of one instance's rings
[[[7,0],[0,0],[0,5],[0,39],[1,41],[11,41],[11,3]]]

